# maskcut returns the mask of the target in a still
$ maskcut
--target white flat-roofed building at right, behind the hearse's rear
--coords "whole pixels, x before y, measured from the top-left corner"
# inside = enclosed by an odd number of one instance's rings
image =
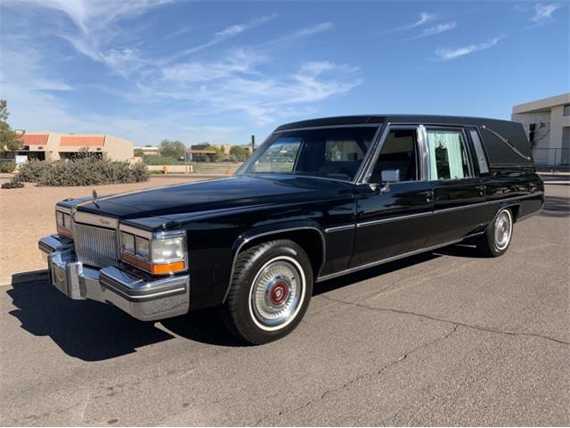
[[[533,148],[537,165],[570,165],[570,93],[513,107]]]

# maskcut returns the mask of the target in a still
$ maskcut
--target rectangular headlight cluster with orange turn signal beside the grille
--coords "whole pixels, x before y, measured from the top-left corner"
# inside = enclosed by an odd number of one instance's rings
[[[187,269],[183,231],[151,234],[131,226],[120,226],[121,259],[153,275],[167,275]]]

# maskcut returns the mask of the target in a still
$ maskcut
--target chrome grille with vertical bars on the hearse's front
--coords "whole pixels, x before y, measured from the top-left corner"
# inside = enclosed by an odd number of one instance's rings
[[[74,223],[73,241],[77,259],[97,268],[117,266],[117,231]]]

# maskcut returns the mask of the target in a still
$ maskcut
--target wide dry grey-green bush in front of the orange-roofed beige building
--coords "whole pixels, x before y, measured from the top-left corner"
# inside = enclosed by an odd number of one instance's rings
[[[111,185],[138,183],[149,179],[142,163],[108,161],[96,156],[82,155],[69,161],[30,161],[14,177],[21,182],[37,185]]]

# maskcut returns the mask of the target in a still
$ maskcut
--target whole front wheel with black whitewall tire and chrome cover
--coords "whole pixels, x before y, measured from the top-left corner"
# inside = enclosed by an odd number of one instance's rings
[[[252,344],[281,339],[297,327],[312,294],[311,262],[297,243],[260,243],[236,259],[224,324]]]

